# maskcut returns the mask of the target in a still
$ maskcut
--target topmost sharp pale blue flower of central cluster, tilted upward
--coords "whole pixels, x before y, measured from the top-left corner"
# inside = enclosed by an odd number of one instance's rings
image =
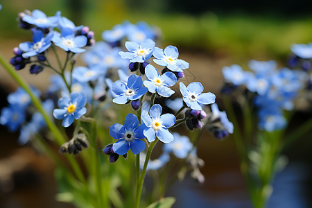
[[[130,62],[143,63],[152,57],[152,53],[155,50],[155,42],[150,39],[144,40],[141,44],[127,41],[125,42],[125,48],[129,52],[120,51],[119,55],[121,55],[121,58],[130,59]]]

